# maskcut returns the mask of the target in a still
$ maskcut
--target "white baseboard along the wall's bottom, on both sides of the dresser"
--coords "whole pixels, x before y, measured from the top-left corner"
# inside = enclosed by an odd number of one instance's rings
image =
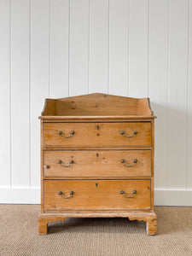
[[[40,204],[40,188],[0,188],[1,204]],[[154,189],[155,206],[192,207],[192,189]]]

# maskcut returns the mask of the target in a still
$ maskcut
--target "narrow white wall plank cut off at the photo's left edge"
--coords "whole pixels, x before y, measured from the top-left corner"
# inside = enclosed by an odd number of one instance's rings
[[[10,1],[0,1],[0,186],[10,185]]]

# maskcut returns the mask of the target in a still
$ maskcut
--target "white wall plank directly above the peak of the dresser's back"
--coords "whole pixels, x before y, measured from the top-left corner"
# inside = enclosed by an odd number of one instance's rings
[[[90,0],[90,93],[108,92],[108,15],[108,0]]]

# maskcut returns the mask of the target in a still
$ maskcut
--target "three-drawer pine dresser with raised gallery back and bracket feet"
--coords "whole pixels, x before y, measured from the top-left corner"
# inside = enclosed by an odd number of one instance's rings
[[[125,217],[154,235],[154,118],[148,98],[46,99],[38,233],[67,217]]]

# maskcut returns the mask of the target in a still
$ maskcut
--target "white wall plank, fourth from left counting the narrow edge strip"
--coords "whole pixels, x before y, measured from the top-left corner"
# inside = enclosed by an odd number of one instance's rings
[[[69,0],[50,0],[49,96],[68,96]]]

